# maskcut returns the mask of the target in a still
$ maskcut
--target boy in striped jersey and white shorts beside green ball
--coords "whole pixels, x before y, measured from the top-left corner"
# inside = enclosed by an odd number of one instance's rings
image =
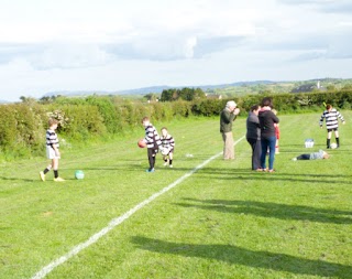
[[[54,181],[61,182],[65,181],[58,176],[58,159],[61,158],[58,151],[58,139],[55,130],[57,129],[58,121],[51,118],[48,120],[50,128],[46,130],[46,157],[52,160],[52,163],[45,168],[44,171],[40,172],[42,181],[45,181],[45,174],[53,169],[54,170]]]

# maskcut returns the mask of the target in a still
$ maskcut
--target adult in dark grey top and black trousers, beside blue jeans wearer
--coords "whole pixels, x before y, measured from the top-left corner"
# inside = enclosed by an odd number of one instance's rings
[[[254,105],[251,107],[249,117],[246,118],[246,141],[252,148],[252,170],[261,169],[261,126],[257,117],[261,107]]]

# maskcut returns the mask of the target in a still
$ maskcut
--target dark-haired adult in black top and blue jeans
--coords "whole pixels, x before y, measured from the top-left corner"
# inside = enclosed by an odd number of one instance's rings
[[[265,97],[261,104],[262,108],[258,111],[258,119],[261,125],[261,168],[258,171],[266,171],[266,150],[268,149],[268,172],[274,172],[275,160],[275,144],[276,135],[274,124],[278,124],[278,118],[272,111],[273,101],[270,97]]]

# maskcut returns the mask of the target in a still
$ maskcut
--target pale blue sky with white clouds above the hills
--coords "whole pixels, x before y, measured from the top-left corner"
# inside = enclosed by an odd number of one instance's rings
[[[0,99],[351,73],[350,0],[1,0]]]

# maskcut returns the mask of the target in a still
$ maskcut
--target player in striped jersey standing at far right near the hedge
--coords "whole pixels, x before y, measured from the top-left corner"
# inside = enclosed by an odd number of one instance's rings
[[[326,119],[328,138],[327,138],[327,148],[330,148],[331,132],[334,131],[334,138],[337,140],[338,148],[340,147],[340,138],[339,138],[339,118],[342,124],[344,124],[343,116],[333,108],[330,104],[327,105],[327,109],[322,112],[319,126],[322,128],[323,119]]]

